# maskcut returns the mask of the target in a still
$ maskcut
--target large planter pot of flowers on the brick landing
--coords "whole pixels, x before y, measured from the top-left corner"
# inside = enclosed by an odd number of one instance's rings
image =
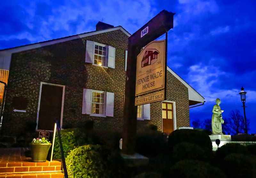
[[[50,141],[44,137],[42,139],[34,138],[30,143],[32,161],[45,162],[51,145]]]

